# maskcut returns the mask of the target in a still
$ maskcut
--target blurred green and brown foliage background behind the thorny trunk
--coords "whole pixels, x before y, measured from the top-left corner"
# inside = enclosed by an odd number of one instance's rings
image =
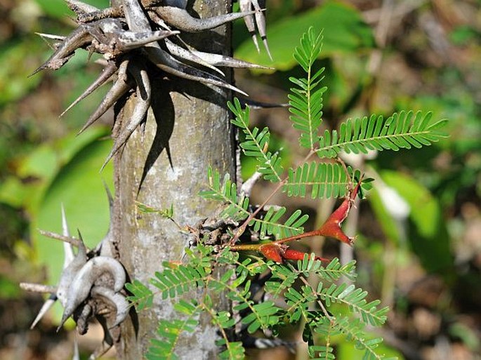
[[[87,2],[100,7],[107,4],[105,0]],[[367,160],[378,182],[394,189],[411,211],[400,227],[383,202],[386,195],[371,192],[369,202],[361,206],[355,255],[363,288],[383,300],[393,299],[397,321],[390,331],[404,345],[424,354],[445,336],[451,344],[461,344],[463,351],[475,354],[481,349],[475,333],[479,319],[470,316],[481,306],[481,246],[479,236],[473,235],[479,234],[475,229],[481,224],[481,88],[476,81],[481,76],[480,1],[446,1],[444,6],[431,1],[393,18],[386,46],[381,48],[382,65],[372,73],[368,69],[376,51],[377,22],[368,25],[364,19],[369,20],[369,11],[382,3],[268,1],[268,39],[274,62],[264,51],[254,51],[242,22],[234,25],[235,55],[278,70],[272,74],[239,72],[237,84],[249,89],[253,99],[286,102],[290,86],[286,79],[301,72],[291,53],[301,34],[314,25],[324,28],[320,61],[326,67],[329,93],[323,111],[331,128],[348,117],[386,115],[407,108],[429,109],[435,119],[449,119],[450,138],[437,142],[430,151],[401,150],[395,158],[379,154]],[[101,94],[92,95],[58,119],[100,71],[92,60],[86,65],[86,53],[78,53],[59,72],[27,77],[51,53],[33,32],[65,34],[71,29],[63,1],[6,1],[0,10],[4,20],[0,27],[0,260],[5,264],[0,272],[0,302],[25,309],[34,301],[38,307],[39,299],[20,293],[15,286],[18,281],[55,283],[61,246],[41,238],[37,228],[60,229],[61,202],[71,230],[79,228],[88,245],[105,234],[108,206],[103,180],[110,181],[112,169],[100,175],[98,169],[111,146],[105,140],[109,120],[104,128],[75,137]],[[433,35],[426,33],[428,22],[442,29],[443,35],[433,42],[429,40]],[[434,46],[440,41],[447,44],[444,53]],[[290,145],[284,110],[263,110],[254,116],[254,126],[270,126],[270,145],[277,146],[284,161],[301,156],[296,153],[297,145]],[[244,177],[248,177],[253,166],[249,159],[244,164]],[[310,201],[304,206],[314,215],[320,213]],[[329,244],[325,251],[337,255]],[[387,258],[393,260],[394,275]],[[427,309],[442,325],[423,333],[413,325],[419,309]],[[33,312],[22,319],[1,314],[0,338],[27,328]],[[8,344],[2,340],[0,347],[8,349]],[[357,359],[342,342],[337,350],[338,359]],[[409,352],[404,356],[409,358]]]

